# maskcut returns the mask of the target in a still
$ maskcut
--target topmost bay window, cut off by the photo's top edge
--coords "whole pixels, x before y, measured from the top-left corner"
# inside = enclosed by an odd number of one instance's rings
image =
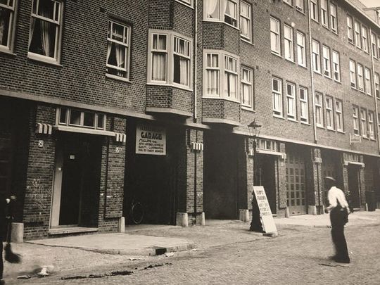
[[[237,27],[236,0],[205,0],[203,11],[205,20],[216,20]]]

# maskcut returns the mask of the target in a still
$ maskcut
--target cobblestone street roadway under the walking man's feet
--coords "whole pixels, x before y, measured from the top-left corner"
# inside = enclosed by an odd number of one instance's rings
[[[144,260],[65,249],[63,255],[75,254],[76,267],[7,284],[380,284],[379,223],[346,228],[349,265],[327,260],[333,253],[328,228],[284,225],[277,238],[227,228],[229,239],[211,234],[196,251]]]

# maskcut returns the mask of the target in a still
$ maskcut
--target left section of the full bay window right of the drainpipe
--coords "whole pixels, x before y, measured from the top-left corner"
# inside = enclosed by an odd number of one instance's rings
[[[206,53],[205,60],[205,95],[220,95],[220,55]]]

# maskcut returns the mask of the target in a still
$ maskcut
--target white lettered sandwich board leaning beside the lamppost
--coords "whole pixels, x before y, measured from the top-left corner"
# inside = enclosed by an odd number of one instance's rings
[[[263,186],[253,186],[253,193],[255,194],[256,201],[258,201],[258,208],[260,210],[260,219],[262,223],[262,229],[266,233],[277,232],[276,224],[274,224],[272,211],[265,194]]]

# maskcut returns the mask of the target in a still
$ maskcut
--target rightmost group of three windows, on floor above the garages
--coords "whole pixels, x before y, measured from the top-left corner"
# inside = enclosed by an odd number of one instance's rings
[[[353,106],[353,129],[354,134],[364,138],[375,139],[374,112]]]

